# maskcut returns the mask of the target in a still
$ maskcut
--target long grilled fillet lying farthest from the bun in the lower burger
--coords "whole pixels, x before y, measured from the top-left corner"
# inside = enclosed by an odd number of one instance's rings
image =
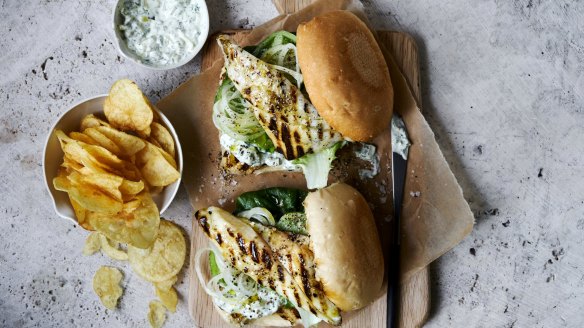
[[[218,207],[199,210],[195,217],[234,268],[318,318],[334,325],[341,323],[338,311],[331,316],[316,309],[272,252],[270,245],[250,225]]]

